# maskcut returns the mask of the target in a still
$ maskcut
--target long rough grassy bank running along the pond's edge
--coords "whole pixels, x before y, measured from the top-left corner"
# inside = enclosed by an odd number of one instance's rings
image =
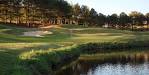
[[[66,63],[74,61],[81,54],[110,53],[129,51],[133,48],[149,48],[149,42],[127,42],[127,43],[87,43],[78,46],[57,49],[55,51],[31,51],[20,56],[23,64],[30,67],[30,72],[35,74],[52,74]],[[134,50],[135,51],[135,50]],[[133,52],[133,51],[132,51]]]

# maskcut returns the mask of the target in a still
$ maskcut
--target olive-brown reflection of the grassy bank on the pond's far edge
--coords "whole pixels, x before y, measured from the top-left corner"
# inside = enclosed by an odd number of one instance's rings
[[[141,57],[142,59],[145,58],[148,60],[148,54],[149,54],[149,49],[145,48],[140,48],[140,49],[130,49],[127,51],[115,51],[115,52],[110,52],[110,53],[95,53],[95,54],[82,54],[79,57],[80,61],[102,61],[102,60],[112,60],[113,58],[119,58],[119,60],[124,59],[131,59],[135,61],[136,57]],[[123,62],[122,62],[123,63]],[[134,62],[135,63],[135,62]],[[136,62],[137,63],[137,62]]]

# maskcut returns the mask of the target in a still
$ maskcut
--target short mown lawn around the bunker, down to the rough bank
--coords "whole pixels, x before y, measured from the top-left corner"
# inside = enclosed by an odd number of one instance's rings
[[[0,75],[9,73],[18,64],[18,56],[32,50],[49,50],[87,42],[128,42],[148,41],[149,32],[132,32],[82,26],[61,26],[48,31],[53,34],[44,37],[22,36],[27,29],[0,25]]]

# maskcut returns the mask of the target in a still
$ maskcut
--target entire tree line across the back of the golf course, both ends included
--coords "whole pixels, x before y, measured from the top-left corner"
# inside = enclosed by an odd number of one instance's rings
[[[111,28],[131,28],[144,26],[149,29],[149,13],[133,11],[129,15],[104,15],[94,8],[79,4],[71,5],[65,0],[0,0],[0,22],[14,23],[28,27],[57,24],[58,18],[65,24],[66,19],[72,24],[101,26]]]

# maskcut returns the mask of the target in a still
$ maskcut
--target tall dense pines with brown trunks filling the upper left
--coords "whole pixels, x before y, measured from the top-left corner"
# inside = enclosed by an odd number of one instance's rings
[[[0,6],[2,22],[11,23],[13,20],[19,25],[72,17],[72,6],[65,0],[0,0]]]

